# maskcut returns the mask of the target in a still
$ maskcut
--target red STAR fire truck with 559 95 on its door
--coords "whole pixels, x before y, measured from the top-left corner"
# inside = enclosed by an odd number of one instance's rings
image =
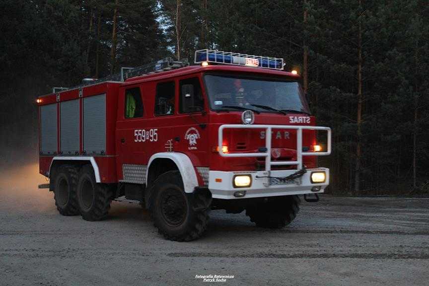
[[[40,173],[58,211],[100,220],[125,196],[177,241],[200,237],[210,210],[289,224],[299,196],[317,201],[328,185],[316,156],[330,154],[331,130],[283,68],[201,50],[195,65],[167,58],[38,97]]]

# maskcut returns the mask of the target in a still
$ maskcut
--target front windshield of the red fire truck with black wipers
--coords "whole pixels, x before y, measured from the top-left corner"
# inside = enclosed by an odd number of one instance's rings
[[[204,78],[212,110],[309,113],[297,81],[214,74]]]

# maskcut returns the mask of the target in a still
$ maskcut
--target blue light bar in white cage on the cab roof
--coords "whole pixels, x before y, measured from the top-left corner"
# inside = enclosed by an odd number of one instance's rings
[[[195,63],[199,64],[202,62],[283,70],[283,59],[281,58],[261,57],[207,49],[195,52]]]

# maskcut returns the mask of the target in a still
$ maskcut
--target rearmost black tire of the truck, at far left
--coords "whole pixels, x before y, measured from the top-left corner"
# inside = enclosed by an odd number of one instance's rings
[[[76,199],[77,171],[73,165],[61,165],[52,182],[55,206],[62,215],[79,214]]]

